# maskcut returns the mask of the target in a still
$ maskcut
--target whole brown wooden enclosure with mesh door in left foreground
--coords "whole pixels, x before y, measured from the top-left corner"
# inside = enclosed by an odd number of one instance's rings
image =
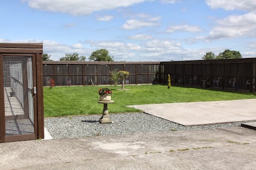
[[[0,142],[44,138],[43,44],[0,43]]]

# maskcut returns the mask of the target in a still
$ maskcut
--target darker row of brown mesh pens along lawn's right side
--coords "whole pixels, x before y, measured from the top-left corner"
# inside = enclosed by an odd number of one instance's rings
[[[170,74],[178,85],[255,91],[255,63],[256,58],[161,62],[159,82]]]

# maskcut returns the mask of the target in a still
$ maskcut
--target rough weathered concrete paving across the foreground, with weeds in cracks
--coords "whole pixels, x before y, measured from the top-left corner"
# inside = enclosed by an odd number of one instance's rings
[[[255,169],[239,127],[0,143],[0,169]]]

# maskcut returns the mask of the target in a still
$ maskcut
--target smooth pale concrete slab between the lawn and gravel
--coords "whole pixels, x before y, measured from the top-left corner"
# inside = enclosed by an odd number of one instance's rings
[[[143,112],[188,125],[256,120],[256,99],[131,105]]]

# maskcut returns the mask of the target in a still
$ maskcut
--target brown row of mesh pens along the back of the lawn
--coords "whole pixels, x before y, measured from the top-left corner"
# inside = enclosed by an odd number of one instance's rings
[[[43,84],[50,86],[50,79],[54,79],[56,86],[114,84],[110,71],[115,69],[129,71],[125,84],[155,83],[159,80],[159,63],[44,61]]]

